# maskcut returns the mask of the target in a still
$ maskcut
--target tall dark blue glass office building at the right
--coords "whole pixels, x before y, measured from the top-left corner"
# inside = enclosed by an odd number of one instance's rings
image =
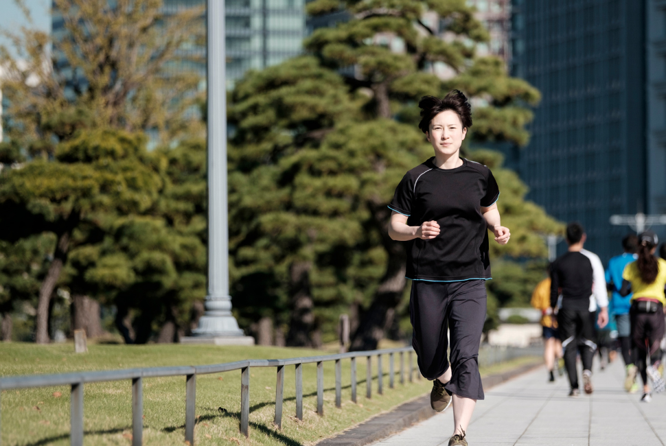
[[[647,165],[666,174],[647,150],[645,3],[512,5],[512,75],[542,93],[531,140],[513,167],[529,186],[529,200],[563,222],[584,224],[586,248],[603,261],[621,251],[621,237],[632,231],[612,226],[610,215],[654,212]]]

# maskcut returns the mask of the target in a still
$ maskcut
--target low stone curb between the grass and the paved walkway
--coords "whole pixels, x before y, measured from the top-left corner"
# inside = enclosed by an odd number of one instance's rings
[[[539,362],[533,362],[514,368],[505,373],[488,375],[481,379],[483,382],[483,388],[487,389],[496,386],[497,384],[501,384],[518,375],[523,375],[523,373],[532,371],[542,364],[543,362],[540,360]],[[401,430],[406,429],[406,427],[428,419],[430,416],[436,414],[437,412],[430,408],[430,395],[426,394],[417,399],[413,399],[412,401],[402,403],[390,412],[375,416],[356,427],[352,427],[351,429],[342,432],[338,436],[325,438],[317,443],[317,446],[368,445],[369,443],[374,443],[382,438],[400,432]]]

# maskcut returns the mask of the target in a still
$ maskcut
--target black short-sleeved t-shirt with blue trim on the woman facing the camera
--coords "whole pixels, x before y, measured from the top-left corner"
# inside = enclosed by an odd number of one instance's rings
[[[490,169],[463,159],[455,169],[439,169],[433,158],[405,174],[389,209],[407,215],[409,226],[436,221],[434,239],[407,244],[406,277],[422,281],[490,279],[487,224],[480,207],[497,201]]]

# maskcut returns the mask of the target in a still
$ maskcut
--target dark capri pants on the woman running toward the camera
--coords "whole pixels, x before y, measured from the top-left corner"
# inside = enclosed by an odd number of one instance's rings
[[[485,280],[459,282],[413,281],[409,309],[421,374],[427,379],[452,377],[444,388],[459,397],[483,399],[479,374],[479,344],[485,322],[487,294]]]

